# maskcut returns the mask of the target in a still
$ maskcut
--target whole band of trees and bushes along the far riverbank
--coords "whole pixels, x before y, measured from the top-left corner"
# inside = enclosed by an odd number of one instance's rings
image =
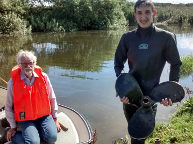
[[[133,6],[127,0],[0,0],[0,34],[104,30],[135,25]],[[193,4],[156,4],[156,7],[156,22],[193,25]]]

